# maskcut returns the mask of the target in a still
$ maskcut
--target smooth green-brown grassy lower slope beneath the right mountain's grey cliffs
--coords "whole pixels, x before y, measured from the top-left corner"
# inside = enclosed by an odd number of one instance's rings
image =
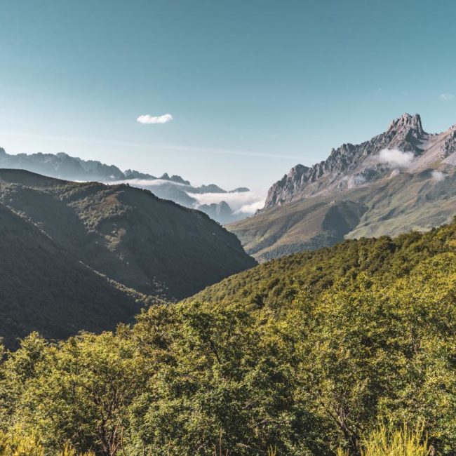
[[[441,182],[431,177],[430,170],[404,173],[370,186],[286,203],[227,228],[259,261],[333,245],[344,236],[396,236],[411,229],[427,230],[448,223],[455,215],[455,179],[454,170]],[[351,210],[343,207],[347,200]],[[328,222],[328,212],[341,205],[338,217]],[[345,229],[340,229],[341,224]]]

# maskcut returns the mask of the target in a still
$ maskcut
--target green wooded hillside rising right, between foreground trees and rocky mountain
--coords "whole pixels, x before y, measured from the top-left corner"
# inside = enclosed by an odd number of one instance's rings
[[[281,309],[300,293],[318,298],[336,283],[352,284],[365,274],[387,287],[422,262],[456,254],[456,217],[426,233],[409,232],[391,239],[349,239],[335,246],[303,251],[259,264],[208,286],[185,302],[236,302],[254,308]]]

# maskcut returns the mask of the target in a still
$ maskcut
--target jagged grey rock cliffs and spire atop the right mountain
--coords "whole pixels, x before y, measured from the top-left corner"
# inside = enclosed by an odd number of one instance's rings
[[[403,114],[391,122],[388,130],[360,145],[344,144],[333,149],[328,159],[308,166],[297,165],[269,189],[264,208],[271,208],[302,196],[310,196],[324,189],[354,187],[373,182],[389,170],[384,163],[371,159],[382,149],[398,149],[422,154],[423,144],[429,139],[424,132],[419,114]],[[386,163],[387,164],[387,163]]]

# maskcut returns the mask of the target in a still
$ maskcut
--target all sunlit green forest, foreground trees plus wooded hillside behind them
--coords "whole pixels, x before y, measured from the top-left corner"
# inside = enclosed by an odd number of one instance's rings
[[[4,350],[1,454],[454,455],[455,304],[456,222],[267,262],[115,333],[32,333]]]

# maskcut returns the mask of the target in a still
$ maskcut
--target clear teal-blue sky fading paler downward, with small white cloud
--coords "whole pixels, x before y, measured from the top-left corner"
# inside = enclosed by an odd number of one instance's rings
[[[456,123],[455,17],[430,0],[0,0],[0,147],[264,194],[403,112]]]

